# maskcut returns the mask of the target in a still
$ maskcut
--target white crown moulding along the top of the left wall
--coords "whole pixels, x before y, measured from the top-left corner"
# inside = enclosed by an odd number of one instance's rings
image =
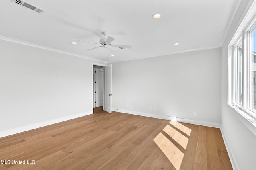
[[[80,54],[76,54],[76,53],[71,53],[71,52],[68,52],[68,51],[60,50],[60,49],[54,49],[54,48],[51,48],[51,47],[46,47],[46,46],[43,46],[43,45],[38,45],[38,44],[30,43],[30,42],[27,42],[27,41],[22,41],[22,40],[19,40],[19,39],[5,37],[5,36],[2,36],[2,35],[0,35],[0,39],[5,40],[5,41],[10,41],[10,42],[13,42],[13,43],[22,44],[22,45],[28,45],[30,47],[36,47],[36,48],[45,49],[45,50],[49,50],[49,51],[54,51],[54,52],[58,52],[58,53],[62,53],[62,54],[73,55],[73,56],[76,56],[76,57],[82,57],[84,59],[89,59],[89,60],[93,60],[93,61],[97,61],[97,62],[107,63],[107,61],[103,61],[103,60],[100,60],[100,59],[94,59],[92,57],[88,57],[88,56],[84,56],[84,55],[80,55]]]

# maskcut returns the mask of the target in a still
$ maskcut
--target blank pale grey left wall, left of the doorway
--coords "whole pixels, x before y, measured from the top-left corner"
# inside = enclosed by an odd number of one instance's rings
[[[92,113],[92,61],[0,40],[0,137]]]

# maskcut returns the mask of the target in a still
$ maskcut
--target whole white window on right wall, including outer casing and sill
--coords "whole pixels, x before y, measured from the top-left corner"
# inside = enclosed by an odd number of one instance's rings
[[[256,0],[228,45],[228,104],[256,135]]]

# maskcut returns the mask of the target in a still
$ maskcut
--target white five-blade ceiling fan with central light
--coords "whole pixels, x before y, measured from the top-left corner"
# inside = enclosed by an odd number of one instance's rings
[[[130,49],[130,48],[132,48],[132,46],[130,46],[130,45],[114,45],[114,44],[111,44],[111,42],[114,41],[114,38],[108,36],[108,38],[106,39],[106,36],[107,36],[108,33],[107,32],[102,32],[102,34],[104,35],[105,38],[100,39],[99,43],[93,43],[93,44],[100,44],[101,46],[94,47],[92,49],[88,49],[87,51],[98,49],[100,47],[110,49],[110,51],[112,51],[112,52],[114,52],[114,51],[110,47],[118,47],[120,49]],[[85,42],[85,43],[92,43],[92,42],[87,42],[87,41],[82,41],[82,40],[78,40],[78,41]]]

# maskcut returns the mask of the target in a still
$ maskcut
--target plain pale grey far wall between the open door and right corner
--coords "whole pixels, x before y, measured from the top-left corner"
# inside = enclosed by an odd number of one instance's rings
[[[112,63],[112,110],[218,126],[220,56],[217,48]]]

